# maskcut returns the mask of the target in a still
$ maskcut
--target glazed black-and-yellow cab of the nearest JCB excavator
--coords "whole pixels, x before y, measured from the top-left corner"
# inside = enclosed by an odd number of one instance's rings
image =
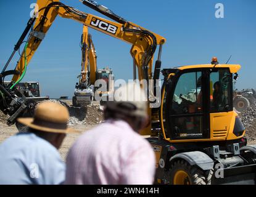
[[[173,73],[162,103],[166,138],[225,140],[232,127],[229,123],[237,116],[233,111],[233,73],[228,67],[186,67],[165,70],[168,75]],[[236,139],[232,134],[229,137]]]

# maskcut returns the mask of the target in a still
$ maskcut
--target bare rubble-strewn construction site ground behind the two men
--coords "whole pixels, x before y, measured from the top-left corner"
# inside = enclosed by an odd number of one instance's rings
[[[72,144],[75,140],[84,132],[96,127],[103,120],[103,111],[102,107],[98,103],[93,103],[93,105],[88,106],[88,108],[81,109],[72,107],[70,100],[52,100],[54,102],[60,102],[65,105],[70,112],[70,122],[69,126],[73,127],[78,131],[77,134],[68,134],[62,143],[60,148],[60,155],[65,161],[68,150],[72,147]],[[256,144],[256,105],[250,107],[244,113],[241,113],[242,122],[246,126],[247,130],[247,139],[249,144]],[[0,143],[3,142],[8,137],[17,134],[17,128],[15,125],[7,126],[6,125],[7,116],[0,113]]]

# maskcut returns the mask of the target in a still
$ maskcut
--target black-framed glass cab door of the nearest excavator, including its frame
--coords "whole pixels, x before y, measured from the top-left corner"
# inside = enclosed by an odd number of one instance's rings
[[[209,138],[208,74],[206,70],[182,71],[173,79],[165,105],[166,135],[171,140]]]

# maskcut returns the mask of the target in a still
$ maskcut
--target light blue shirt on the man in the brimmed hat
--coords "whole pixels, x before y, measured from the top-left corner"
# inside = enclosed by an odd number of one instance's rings
[[[33,133],[19,133],[0,145],[0,184],[64,182],[65,164],[57,149]]]

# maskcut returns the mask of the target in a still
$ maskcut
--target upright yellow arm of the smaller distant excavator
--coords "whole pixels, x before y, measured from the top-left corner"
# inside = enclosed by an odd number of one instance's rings
[[[88,67],[90,68],[89,73],[89,84],[94,84],[96,81],[97,71],[97,55],[96,50],[91,39],[91,34],[88,33],[88,26],[83,25],[83,35],[81,38],[81,49],[82,49],[82,62],[81,62],[81,83],[85,83],[87,80]]]

